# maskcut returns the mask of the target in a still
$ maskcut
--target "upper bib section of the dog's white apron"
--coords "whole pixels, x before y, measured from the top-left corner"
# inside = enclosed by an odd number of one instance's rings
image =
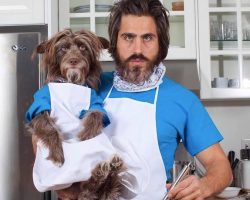
[[[56,119],[64,141],[77,141],[77,135],[83,128],[79,119],[82,110],[89,110],[91,89],[71,83],[49,83],[51,112]]]

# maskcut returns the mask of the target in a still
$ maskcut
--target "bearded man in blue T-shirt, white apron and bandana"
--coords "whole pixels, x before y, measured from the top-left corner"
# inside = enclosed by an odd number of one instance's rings
[[[169,192],[173,199],[199,200],[231,183],[223,139],[198,98],[165,76],[169,21],[158,0],[120,0],[111,10],[110,49],[115,73],[102,76],[100,94],[113,141],[128,141],[148,175],[136,200],[161,200],[182,139],[204,165],[202,178],[188,176]],[[60,194],[60,193],[59,193]]]

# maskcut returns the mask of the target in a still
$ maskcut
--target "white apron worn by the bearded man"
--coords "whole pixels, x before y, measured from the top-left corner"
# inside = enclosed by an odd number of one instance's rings
[[[135,174],[141,193],[135,200],[161,200],[166,193],[166,173],[160,154],[156,132],[156,101],[154,104],[139,102],[129,98],[109,98],[112,88],[105,99],[104,108],[108,112],[111,124],[105,132],[111,136],[116,149],[130,151],[126,144],[133,147],[140,158],[142,169]],[[122,198],[121,198],[122,199]]]

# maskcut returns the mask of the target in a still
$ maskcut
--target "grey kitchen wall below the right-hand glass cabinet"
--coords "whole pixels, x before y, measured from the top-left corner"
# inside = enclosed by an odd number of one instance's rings
[[[250,139],[250,101],[204,102],[217,128],[224,136],[221,145],[226,153],[234,150],[240,158],[241,139]]]

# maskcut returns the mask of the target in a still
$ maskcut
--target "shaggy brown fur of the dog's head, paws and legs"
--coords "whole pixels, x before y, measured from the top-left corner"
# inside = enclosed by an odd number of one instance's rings
[[[47,72],[46,82],[65,80],[75,84],[86,84],[98,90],[101,74],[99,54],[108,48],[108,41],[93,33],[81,30],[73,33],[71,29],[58,32],[50,40],[42,42],[34,51],[33,57],[43,54],[42,65]],[[37,115],[29,124],[28,131],[49,149],[47,159],[61,166],[64,163],[62,138],[48,111]],[[83,118],[83,127],[78,135],[81,141],[100,134],[103,128],[103,114],[90,111]],[[84,170],[84,169],[83,169]],[[59,191],[68,194],[64,198],[79,200],[115,200],[121,193],[119,173],[125,171],[121,158],[114,156],[110,161],[99,163],[92,171],[89,180],[74,183],[71,188]],[[80,195],[78,196],[77,194]],[[76,196],[77,195],[77,196]],[[63,195],[62,195],[63,196]]]

